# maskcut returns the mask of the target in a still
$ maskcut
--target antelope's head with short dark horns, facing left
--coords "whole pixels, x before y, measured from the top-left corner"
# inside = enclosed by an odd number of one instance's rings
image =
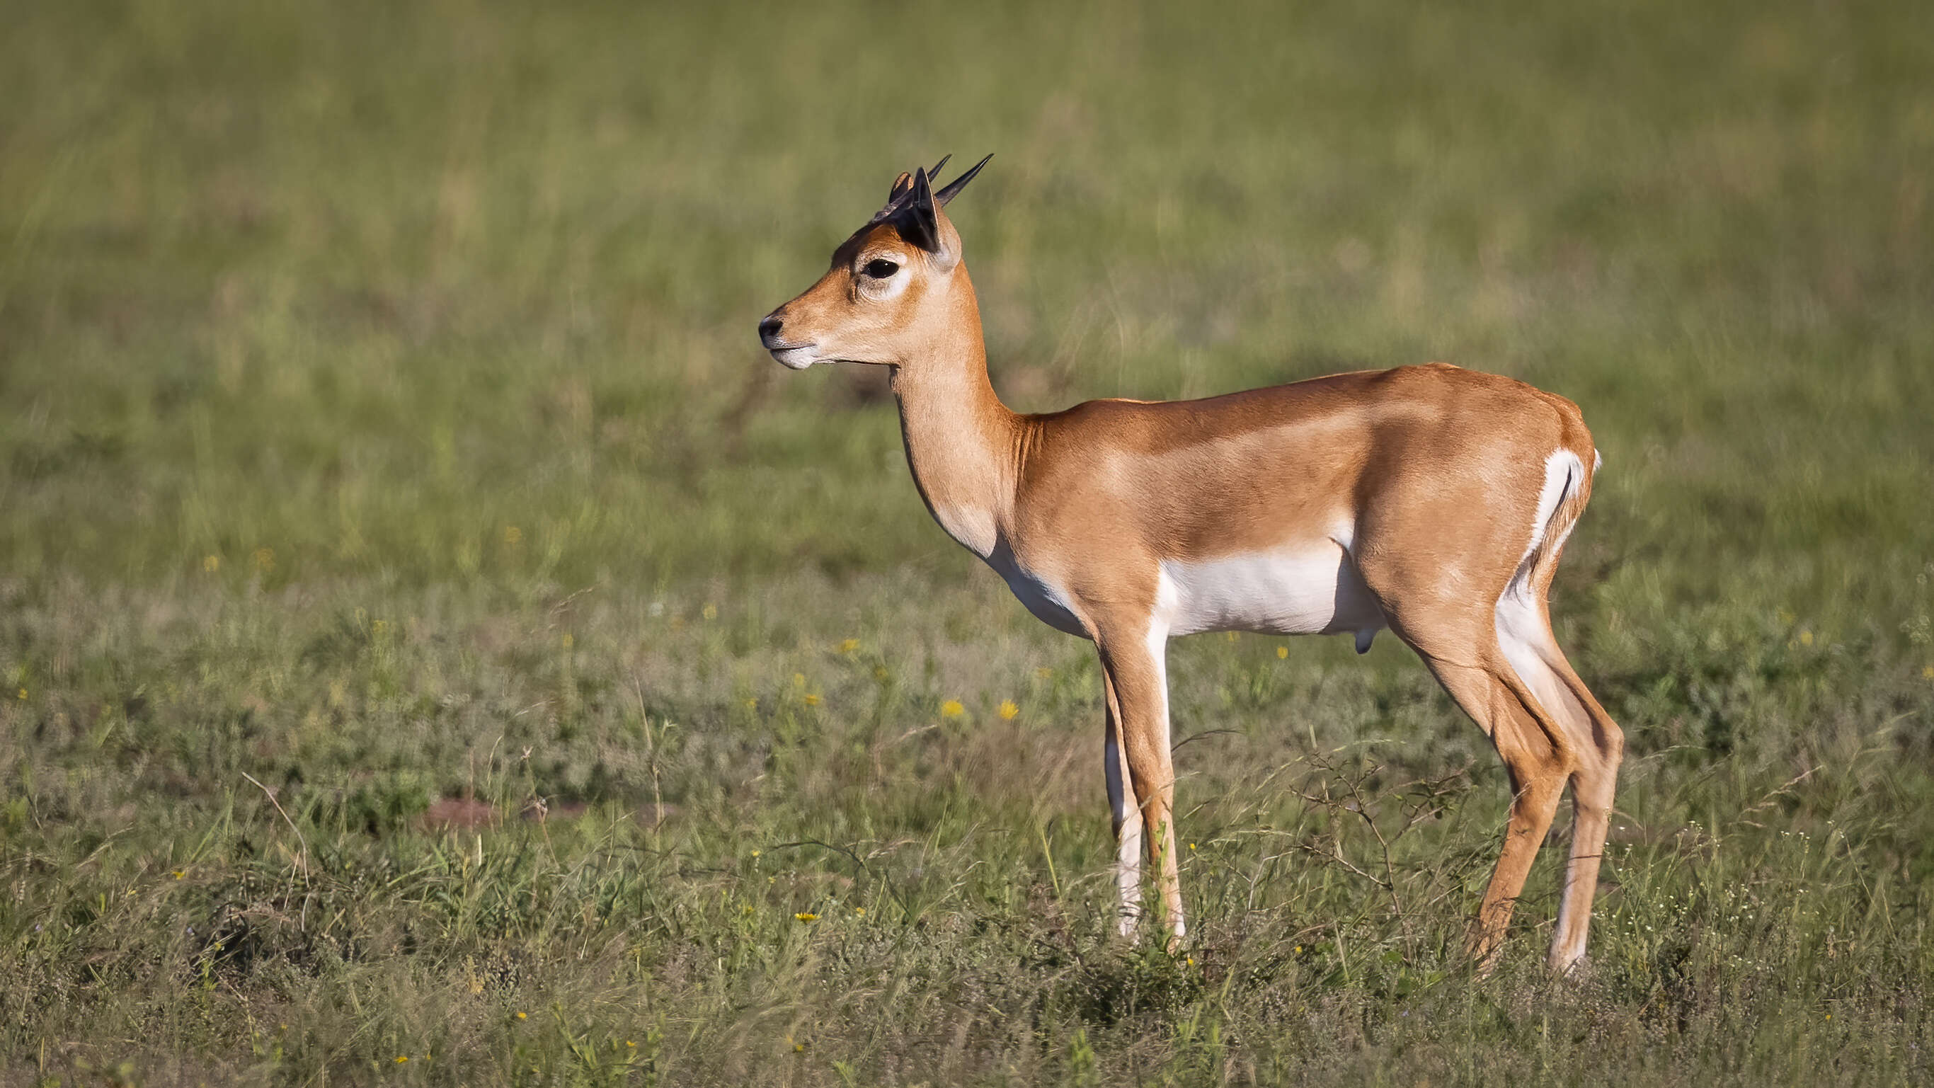
[[[936,323],[959,319],[963,303],[971,311],[961,236],[940,209],[986,158],[940,189],[930,182],[946,158],[930,172],[901,174],[886,207],[834,249],[826,274],[758,323],[772,358],[795,371],[812,363],[897,367],[934,336]]]

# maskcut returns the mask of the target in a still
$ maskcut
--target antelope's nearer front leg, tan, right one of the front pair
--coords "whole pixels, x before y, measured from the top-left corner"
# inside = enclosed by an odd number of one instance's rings
[[[1116,817],[1124,914],[1129,902],[1126,856],[1129,856],[1131,845],[1122,837],[1122,829],[1133,827],[1133,835],[1147,843],[1149,862],[1155,866],[1157,897],[1162,902],[1162,922],[1170,933],[1168,945],[1174,949],[1187,933],[1187,924],[1182,920],[1182,879],[1176,872],[1176,773],[1168,758],[1168,630],[1149,620],[1128,638],[1104,634],[1097,644],[1112,692],[1116,744],[1128,765],[1128,785],[1135,790],[1135,817]],[[1110,783],[1110,800],[1114,794],[1114,783]],[[1139,881],[1139,872],[1135,877]],[[1139,883],[1135,901],[1139,914]]]

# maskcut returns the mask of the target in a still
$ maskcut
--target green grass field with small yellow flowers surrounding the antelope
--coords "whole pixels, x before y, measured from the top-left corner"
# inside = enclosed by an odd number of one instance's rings
[[[1934,1078],[1934,8],[12,4],[0,1082]],[[1394,640],[1099,669],[758,315],[894,174],[1019,410],[1449,359],[1605,456],[1592,966]],[[1286,655],[1278,653],[1286,647]],[[1387,848],[1383,846],[1387,845]]]

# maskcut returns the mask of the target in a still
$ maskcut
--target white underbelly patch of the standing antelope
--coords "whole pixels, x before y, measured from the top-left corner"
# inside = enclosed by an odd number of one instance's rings
[[[1334,541],[1205,562],[1164,560],[1157,615],[1172,636],[1358,632],[1360,645],[1385,626],[1383,609]]]

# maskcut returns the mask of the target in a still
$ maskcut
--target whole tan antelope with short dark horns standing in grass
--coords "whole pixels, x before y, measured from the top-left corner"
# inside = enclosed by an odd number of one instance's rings
[[[1570,968],[1584,957],[1623,748],[1545,607],[1597,468],[1578,408],[1429,363],[1017,415],[988,383],[981,309],[942,211],[982,166],[940,189],[926,170],[901,174],[832,269],[766,315],[758,336],[791,369],[892,367],[907,464],[934,520],[1027,611],[1100,649],[1122,931],[1141,912],[1143,841],[1170,943],[1186,931],[1168,640],[1350,632],[1365,651],[1389,628],[1510,775],[1505,846],[1470,935],[1483,966],[1570,783],[1549,957]]]

